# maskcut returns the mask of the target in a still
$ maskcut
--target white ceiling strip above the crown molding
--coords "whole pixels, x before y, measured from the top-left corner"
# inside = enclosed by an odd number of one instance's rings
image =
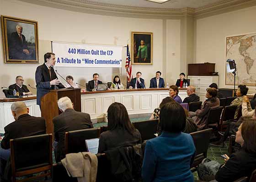
[[[83,0],[79,0],[83,1]],[[232,0],[169,0],[163,4],[150,2],[147,0],[84,0],[85,2],[107,3],[114,5],[128,5],[137,7],[150,8],[199,8],[206,5],[212,5],[219,2],[226,2]]]

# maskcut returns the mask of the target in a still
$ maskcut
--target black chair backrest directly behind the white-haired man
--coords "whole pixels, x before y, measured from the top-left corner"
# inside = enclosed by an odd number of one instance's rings
[[[69,131],[65,133],[65,153],[88,152],[85,140],[100,137],[100,128]]]

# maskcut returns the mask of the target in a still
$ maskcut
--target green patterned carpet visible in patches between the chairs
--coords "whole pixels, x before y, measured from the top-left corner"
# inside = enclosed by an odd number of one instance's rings
[[[149,117],[140,117],[140,118],[131,118],[132,122],[136,122],[136,121],[146,121],[148,120]],[[93,125],[95,128],[101,127],[101,126],[107,126],[107,122],[101,122],[101,123],[96,123]],[[0,136],[3,136],[3,134],[0,133]],[[224,160],[222,157],[220,157],[222,154],[228,154],[228,146],[227,146],[228,141],[225,143],[224,148],[222,147],[213,147],[210,146],[208,147],[208,152],[207,152],[207,157],[211,160],[217,161],[220,164],[224,163]],[[55,162],[55,157],[54,157],[54,152],[53,152],[53,163]],[[34,174],[34,175],[38,175],[38,174]],[[194,179],[198,180],[197,177],[197,172],[193,173],[194,175]],[[33,180],[33,182],[43,182],[44,178],[42,179],[36,179]],[[50,181],[50,180],[49,180]]]

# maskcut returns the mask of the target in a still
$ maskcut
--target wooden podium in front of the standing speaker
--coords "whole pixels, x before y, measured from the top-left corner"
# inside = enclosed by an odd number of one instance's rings
[[[41,98],[41,116],[46,121],[46,133],[53,133],[53,117],[61,113],[58,107],[58,100],[64,96],[71,99],[75,111],[81,111],[80,88],[64,88],[49,91]]]

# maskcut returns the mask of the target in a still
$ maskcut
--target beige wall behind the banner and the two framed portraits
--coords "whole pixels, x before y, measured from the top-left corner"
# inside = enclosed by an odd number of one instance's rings
[[[18,0],[0,0],[0,15],[38,21],[40,64],[43,63],[43,54],[51,51],[51,40],[125,46],[128,40],[129,42],[131,40],[131,31],[144,31],[153,32],[153,65],[133,65],[133,76],[137,71],[141,71],[146,86],[149,87],[149,79],[154,77],[158,70],[163,73],[162,76],[167,78],[170,85],[175,84],[177,74],[180,72],[180,20],[167,20],[164,25],[163,22],[166,20],[92,15],[28,4]],[[39,64],[5,64],[2,38],[0,41],[0,86],[9,86],[14,83],[16,75],[22,75],[26,85],[35,86],[34,75]],[[166,47],[163,47],[163,41],[166,41]],[[171,56],[171,52],[175,52],[175,56]],[[163,59],[163,53],[166,54],[166,59]],[[126,58],[125,54],[124,48],[123,60]],[[168,61],[167,72],[165,71],[166,60]],[[73,75],[75,81],[83,85],[85,81],[91,80],[94,72],[98,72],[100,79],[104,82],[111,81],[114,75],[122,73],[122,80],[126,82],[124,65],[122,69],[58,68],[58,71],[63,76]],[[35,90],[31,89],[31,91],[36,93]],[[0,96],[3,96],[1,91]]]

